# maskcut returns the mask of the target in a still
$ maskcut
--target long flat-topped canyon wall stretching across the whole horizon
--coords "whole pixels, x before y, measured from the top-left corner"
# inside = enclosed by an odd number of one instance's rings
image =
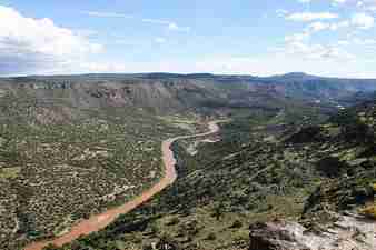
[[[152,112],[210,112],[228,108],[280,109],[291,103],[348,104],[354,94],[376,91],[376,79],[321,78],[288,73],[259,78],[210,73],[82,74],[0,79],[0,89],[51,99],[51,91],[73,107],[102,104]],[[63,90],[63,91],[62,91]],[[345,100],[345,101],[343,101]]]

